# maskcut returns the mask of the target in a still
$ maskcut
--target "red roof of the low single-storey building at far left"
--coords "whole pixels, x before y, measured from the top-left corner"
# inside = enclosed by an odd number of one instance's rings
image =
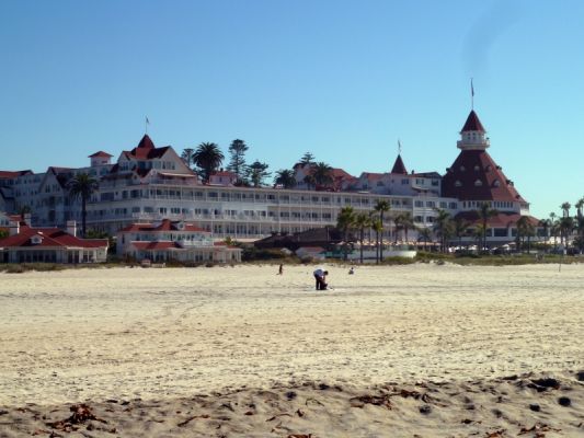
[[[31,238],[39,235],[41,243],[33,244]],[[68,246],[68,247],[102,247],[107,246],[107,239],[80,239],[58,228],[31,228],[22,224],[19,234],[0,240],[2,247],[22,246]]]

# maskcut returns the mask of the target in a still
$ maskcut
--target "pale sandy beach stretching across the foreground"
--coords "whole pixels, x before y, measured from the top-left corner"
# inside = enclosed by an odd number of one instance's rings
[[[0,274],[0,436],[584,436],[584,266],[327,267]]]

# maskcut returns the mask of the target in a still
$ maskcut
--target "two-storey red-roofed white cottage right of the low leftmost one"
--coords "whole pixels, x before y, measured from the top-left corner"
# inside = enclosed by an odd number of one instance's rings
[[[119,230],[117,255],[157,263],[241,262],[241,249],[214,242],[210,231],[193,223],[169,219],[153,223],[133,223]]]

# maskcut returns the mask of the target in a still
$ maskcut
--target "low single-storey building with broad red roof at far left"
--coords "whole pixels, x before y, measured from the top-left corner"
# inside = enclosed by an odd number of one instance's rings
[[[9,230],[10,235],[0,239],[2,263],[103,263],[107,257],[107,239],[78,238],[75,221],[64,231],[11,220]]]

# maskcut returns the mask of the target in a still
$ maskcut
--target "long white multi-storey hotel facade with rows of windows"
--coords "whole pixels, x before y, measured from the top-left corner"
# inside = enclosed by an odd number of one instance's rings
[[[483,129],[482,125],[480,129]],[[484,131],[478,134],[484,137]],[[484,152],[489,147],[477,145],[476,140],[470,140],[473,137],[468,130],[461,131],[458,147],[462,152],[477,148]],[[0,204],[0,210],[4,207],[10,212],[10,206],[12,210],[27,206],[35,226],[64,227],[67,220],[80,221],[80,203],[69,199],[66,184],[82,172],[99,180],[99,191],[88,203],[88,229],[112,235],[131,223],[170,219],[196,223],[217,240],[227,237],[255,240],[274,232],[294,233],[334,226],[342,207],[371,211],[377,200],[387,200],[392,214],[409,212],[416,227],[427,228],[433,227],[437,208],[451,216],[476,210],[483,200],[515,216],[528,214],[529,208],[519,196],[511,201],[506,197],[505,203],[500,203],[493,194],[483,193],[481,198],[472,200],[461,199],[463,196],[444,197],[440,174],[408,173],[401,157],[391,171],[344,178],[333,191],[236,187],[229,181],[202,184],[172,147],[157,148],[147,135],[137,147],[123,151],[115,163],[111,161],[112,155],[103,151],[90,159],[90,165],[80,169],[51,166],[41,174],[0,172],[0,186],[3,187],[0,203],[4,203],[3,206]],[[306,169],[297,169],[299,182],[302,172],[306,173]],[[485,196],[492,198],[485,199]],[[385,238],[393,240],[389,216],[386,216]],[[499,240],[512,238],[512,226],[509,222],[505,237],[499,233]],[[494,233],[492,238],[497,240]],[[413,239],[414,230],[410,232],[410,240]]]

